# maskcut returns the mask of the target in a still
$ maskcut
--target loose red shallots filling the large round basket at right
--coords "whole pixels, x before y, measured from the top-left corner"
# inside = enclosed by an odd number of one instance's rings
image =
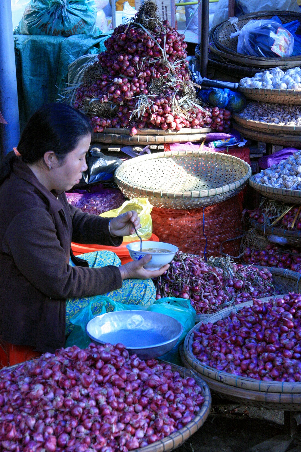
[[[301,381],[301,295],[254,301],[200,325],[193,353],[204,365],[264,381]]]

